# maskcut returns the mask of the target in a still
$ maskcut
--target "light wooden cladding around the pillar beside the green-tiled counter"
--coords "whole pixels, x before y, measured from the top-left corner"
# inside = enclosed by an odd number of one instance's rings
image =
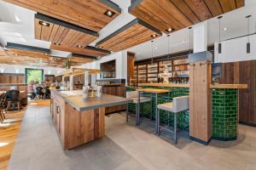
[[[212,137],[211,77],[211,62],[189,65],[189,136],[202,144],[208,144]]]

